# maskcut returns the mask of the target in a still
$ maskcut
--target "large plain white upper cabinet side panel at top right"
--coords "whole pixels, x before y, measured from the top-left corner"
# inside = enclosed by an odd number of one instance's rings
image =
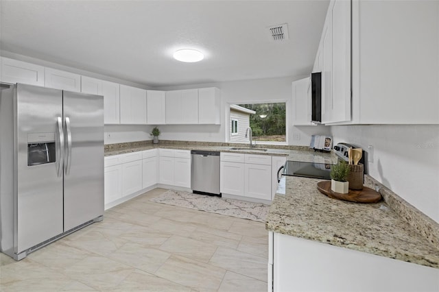
[[[438,124],[439,1],[353,1],[352,14],[352,123]]]

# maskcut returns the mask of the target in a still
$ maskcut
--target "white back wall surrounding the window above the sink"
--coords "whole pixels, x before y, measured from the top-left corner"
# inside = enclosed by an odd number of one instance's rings
[[[244,80],[234,82],[219,82],[212,84],[194,84],[191,86],[174,86],[165,88],[154,88],[157,90],[175,90],[187,88],[202,88],[215,86],[221,90],[222,96],[222,124],[221,125],[162,125],[162,139],[180,141],[209,141],[225,142],[228,133],[228,114],[226,108],[230,104],[248,104],[250,101],[288,101],[287,122],[292,119],[292,81],[300,77],[279,77],[263,80]],[[294,140],[295,133],[300,139]],[[324,126],[302,126],[289,127],[288,145],[309,145],[311,134],[329,134],[329,127]],[[297,136],[297,135],[296,135]]]

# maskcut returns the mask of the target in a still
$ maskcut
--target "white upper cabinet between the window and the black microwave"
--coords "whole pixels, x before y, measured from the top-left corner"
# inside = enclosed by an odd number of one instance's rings
[[[311,125],[310,82],[310,77],[292,82],[293,125]]]

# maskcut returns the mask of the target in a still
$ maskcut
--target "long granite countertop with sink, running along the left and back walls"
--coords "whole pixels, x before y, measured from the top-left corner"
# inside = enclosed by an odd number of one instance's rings
[[[184,149],[184,150],[207,150],[207,151],[221,151],[244,154],[259,154],[270,156],[287,156],[287,160],[303,161],[303,162],[318,162],[318,163],[337,163],[337,156],[333,153],[322,153],[311,151],[306,146],[283,146],[283,145],[262,145],[258,144],[258,148],[265,148],[267,151],[260,151],[254,149],[239,149],[232,150],[231,147],[248,147],[248,144],[237,143],[203,143],[203,142],[185,142],[185,141],[161,141],[159,144],[145,143],[119,143],[105,145],[105,156],[113,156],[119,154],[126,154],[137,151],[144,151],[155,148],[168,149]]]

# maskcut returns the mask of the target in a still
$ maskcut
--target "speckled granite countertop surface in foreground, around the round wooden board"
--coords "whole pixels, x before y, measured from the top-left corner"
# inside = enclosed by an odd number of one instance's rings
[[[385,201],[358,204],[331,199],[317,190],[321,180],[285,179],[285,195],[274,197],[267,230],[439,268],[437,241],[420,234]]]

